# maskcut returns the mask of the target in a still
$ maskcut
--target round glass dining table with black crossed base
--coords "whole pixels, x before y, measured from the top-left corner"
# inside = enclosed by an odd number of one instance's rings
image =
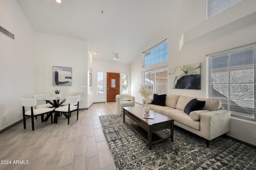
[[[46,101],[47,103],[51,104],[52,107],[58,108],[66,101],[66,97],[68,97],[68,96],[70,96],[70,95],[61,95],[59,98],[57,98],[55,96],[49,96],[49,97],[37,98],[36,100]],[[62,113],[62,114],[66,118],[68,118],[68,115],[66,113]],[[57,123],[57,116],[60,116],[60,113],[55,111],[53,123]],[[49,119],[49,117],[50,117],[50,114],[48,114],[46,116],[44,121],[47,121]]]

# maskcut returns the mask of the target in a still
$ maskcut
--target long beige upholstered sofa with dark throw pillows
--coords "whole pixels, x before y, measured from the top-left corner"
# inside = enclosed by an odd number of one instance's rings
[[[197,98],[197,100],[205,101],[205,106],[202,110],[191,111],[187,114],[184,109],[193,99],[195,98],[168,94],[165,106],[155,104],[148,104],[148,106],[151,110],[174,119],[174,125],[207,139],[208,147],[209,141],[230,131],[230,111],[224,110],[219,100]],[[143,99],[142,106],[144,105]]]

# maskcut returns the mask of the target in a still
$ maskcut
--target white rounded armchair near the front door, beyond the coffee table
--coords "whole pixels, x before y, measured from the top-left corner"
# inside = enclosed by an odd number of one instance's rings
[[[116,95],[116,115],[120,115],[120,112],[123,110],[123,107],[133,107],[135,106],[135,97],[128,94],[118,94]]]

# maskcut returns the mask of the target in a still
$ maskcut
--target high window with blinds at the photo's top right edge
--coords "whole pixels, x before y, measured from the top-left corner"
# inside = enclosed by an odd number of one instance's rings
[[[206,19],[222,12],[241,0],[206,0]]]

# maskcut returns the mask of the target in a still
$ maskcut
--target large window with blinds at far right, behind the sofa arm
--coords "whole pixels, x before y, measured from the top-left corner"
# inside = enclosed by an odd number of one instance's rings
[[[207,96],[222,102],[232,115],[255,117],[256,44],[207,56]]]

